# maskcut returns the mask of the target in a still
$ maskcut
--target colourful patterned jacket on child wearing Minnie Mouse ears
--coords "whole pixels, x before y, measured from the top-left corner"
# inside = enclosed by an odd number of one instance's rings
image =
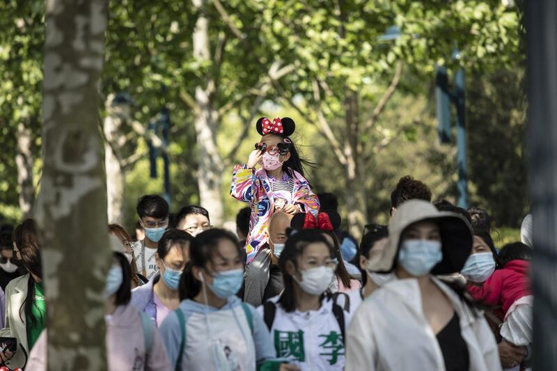
[[[267,222],[274,211],[274,196],[267,172],[264,169],[256,170],[246,168],[246,165],[236,165],[230,195],[249,203],[249,207],[251,207],[249,235],[246,240],[247,262],[249,263],[256,256],[260,246],[267,242],[265,236]],[[301,212],[311,212],[317,216],[319,200],[311,191],[306,178],[297,171],[294,171],[292,200],[294,205],[300,207]]]

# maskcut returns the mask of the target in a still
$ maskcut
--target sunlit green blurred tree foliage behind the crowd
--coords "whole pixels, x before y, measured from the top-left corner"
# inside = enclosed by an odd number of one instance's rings
[[[440,145],[437,138],[434,67],[445,64],[453,70],[463,65],[471,205],[492,214],[499,230],[494,237],[501,246],[519,238],[516,228],[529,210],[521,2],[516,3],[206,1],[203,11],[211,22],[213,55],[221,47],[217,65],[194,58],[192,33],[199,12],[190,1],[111,1],[102,102],[110,93],[129,93],[134,100],[132,119],[144,127],[156,120],[163,106],[170,109],[171,145],[166,150],[171,159],[172,210],[177,211],[201,202],[196,179],[204,171],[199,168],[198,148],[205,143],[197,139],[195,113],[185,98],[195,95],[205,77],[217,77],[214,101],[222,109],[216,141],[225,168],[224,220],[234,220],[244,207],[228,191],[233,164],[244,163],[259,140],[253,128],[256,118],[290,116],[297,123],[293,140],[315,163],[307,169],[313,189],[340,196],[346,224],[351,196],[347,189],[354,184],[347,181],[346,166],[322,132],[322,113],[339,141],[355,135],[361,143],[362,176],[356,185],[366,190],[366,219],[387,223],[390,193],[404,175],[423,180],[434,199],[457,199],[455,145]],[[3,1],[0,16],[0,214],[17,222],[22,217],[15,162],[20,123],[31,130],[33,184],[40,186],[44,1]],[[393,26],[396,38],[382,39]],[[457,60],[451,58],[455,47],[460,49]],[[266,71],[273,63],[292,70],[269,82]],[[346,97],[356,97],[357,121],[366,122],[392,84],[397,63],[402,65],[400,82],[384,111],[370,129],[350,132]],[[269,86],[256,104],[261,81]],[[100,111],[104,117],[104,104]],[[252,122],[246,123],[251,116]],[[246,124],[249,129],[244,131]],[[146,137],[131,125],[124,130],[130,141],[127,155],[139,155],[125,173],[123,223],[132,231],[137,198],[162,194],[162,160],[157,162],[159,177],[151,179]],[[228,157],[235,147],[237,152]]]

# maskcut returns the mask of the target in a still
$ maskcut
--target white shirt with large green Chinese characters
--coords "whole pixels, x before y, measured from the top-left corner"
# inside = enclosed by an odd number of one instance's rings
[[[271,336],[276,356],[286,358],[301,371],[344,370],[345,346],[342,331],[333,313],[333,301],[323,299],[321,308],[287,313],[278,297],[269,299],[276,305]],[[257,308],[263,316],[263,307]],[[345,329],[350,314],[345,312]]]

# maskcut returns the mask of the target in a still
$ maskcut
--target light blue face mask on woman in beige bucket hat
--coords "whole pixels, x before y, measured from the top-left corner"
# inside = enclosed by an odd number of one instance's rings
[[[430,239],[407,239],[402,242],[398,263],[409,274],[421,277],[443,260],[441,242]]]

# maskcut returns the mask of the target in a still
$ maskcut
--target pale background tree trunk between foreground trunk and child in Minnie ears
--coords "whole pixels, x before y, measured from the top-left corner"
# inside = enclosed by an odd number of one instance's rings
[[[205,15],[206,0],[193,1],[198,18],[194,30],[194,58],[201,65],[210,63],[209,19]],[[223,166],[219,148],[217,147],[218,113],[212,106],[211,89],[214,84],[207,77],[203,84],[196,87],[195,125],[197,133],[197,148],[199,156],[198,187],[201,206],[210,212],[211,222],[216,226],[223,223]]]

